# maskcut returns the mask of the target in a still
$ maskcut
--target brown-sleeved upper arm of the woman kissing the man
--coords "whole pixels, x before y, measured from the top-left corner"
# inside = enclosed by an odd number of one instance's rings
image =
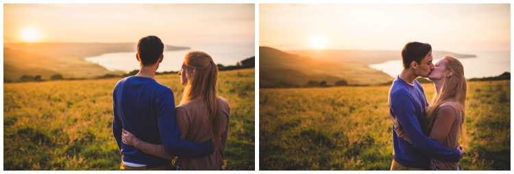
[[[443,143],[452,128],[452,124],[457,119],[457,111],[453,106],[442,106],[437,111],[437,117],[435,119],[432,131],[430,131],[430,138]]]

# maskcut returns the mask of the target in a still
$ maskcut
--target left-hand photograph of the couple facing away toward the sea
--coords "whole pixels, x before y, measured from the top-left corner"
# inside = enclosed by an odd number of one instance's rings
[[[255,170],[255,4],[3,16],[4,170]]]

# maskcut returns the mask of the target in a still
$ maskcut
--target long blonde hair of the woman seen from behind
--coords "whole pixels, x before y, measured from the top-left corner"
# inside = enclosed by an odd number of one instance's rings
[[[208,128],[210,128],[212,143],[215,149],[221,148],[221,120],[218,113],[218,67],[212,57],[201,51],[190,51],[184,57],[184,65],[191,72],[186,73],[188,83],[184,89],[180,104],[186,102],[204,101],[209,109]],[[192,71],[195,70],[195,73]]]

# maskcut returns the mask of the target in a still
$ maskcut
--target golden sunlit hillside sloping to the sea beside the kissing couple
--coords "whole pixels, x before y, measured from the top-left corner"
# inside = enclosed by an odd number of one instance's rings
[[[301,87],[308,81],[326,81],[327,85],[334,85],[341,80],[350,85],[376,85],[393,80],[384,72],[367,66],[320,61],[265,46],[259,47],[259,55],[260,87]]]

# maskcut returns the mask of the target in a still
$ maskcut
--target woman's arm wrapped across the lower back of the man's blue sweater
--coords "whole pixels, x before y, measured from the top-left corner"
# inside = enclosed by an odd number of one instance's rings
[[[175,158],[175,156],[166,153],[166,150],[164,150],[164,145],[154,145],[154,144],[142,141],[142,140],[136,138],[136,136],[134,136],[134,134],[128,132],[127,130],[123,130],[123,132],[121,133],[121,139],[122,139],[123,143],[125,143],[127,145],[132,145],[132,146],[136,147],[137,149],[140,149],[141,151],[145,152],[146,154],[150,154],[152,156],[158,156],[160,158],[164,158],[164,159],[168,159],[168,160],[173,160],[173,158]]]

